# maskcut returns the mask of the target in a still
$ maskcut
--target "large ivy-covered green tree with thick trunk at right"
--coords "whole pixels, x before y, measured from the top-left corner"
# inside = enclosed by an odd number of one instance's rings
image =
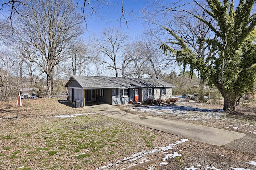
[[[197,57],[172,30],[163,27],[177,42],[162,44],[166,53],[175,56],[179,64],[190,65],[190,70],[200,71],[201,76],[210,85],[218,88],[224,98],[224,110],[234,110],[236,98],[244,92],[253,90],[256,80],[256,13],[251,14],[256,0],[240,0],[234,8],[234,0],[207,0],[208,7],[204,8],[193,0],[207,14],[214,18],[214,24],[204,18],[190,13],[195,20],[204,22],[215,33],[214,38],[199,40],[211,45],[210,50],[216,51],[206,59]],[[174,49],[172,45],[181,49]]]

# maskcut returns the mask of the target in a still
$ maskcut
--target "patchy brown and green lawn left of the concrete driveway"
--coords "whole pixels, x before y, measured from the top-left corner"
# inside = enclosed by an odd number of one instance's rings
[[[58,99],[0,102],[0,169],[95,169],[179,138]],[[58,118],[56,115],[80,115]],[[83,154],[85,153],[85,154]],[[22,168],[19,168],[22,167]]]

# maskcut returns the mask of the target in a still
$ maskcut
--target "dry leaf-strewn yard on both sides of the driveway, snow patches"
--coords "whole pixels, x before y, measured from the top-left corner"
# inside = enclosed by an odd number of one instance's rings
[[[58,99],[0,101],[0,169],[91,170],[115,163],[143,150],[154,150],[180,141],[182,137],[118,121],[83,108],[75,109]],[[176,109],[158,106],[119,106],[130,113],[153,115],[246,133],[256,141],[254,107],[239,107],[244,115],[218,111],[219,105],[176,103]],[[191,110],[192,108],[192,110]],[[202,109],[202,110],[197,110]],[[215,109],[214,111],[209,111]],[[168,112],[171,111],[171,112]],[[58,115],[81,114],[63,118]],[[234,128],[236,127],[236,128]],[[247,140],[246,139],[246,140]],[[230,144],[231,145],[231,144]],[[188,140],[172,149],[148,156],[152,164],[138,168],[174,170],[255,170],[256,154],[241,147],[217,147]],[[249,146],[250,147],[250,146]],[[251,146],[254,150],[255,146]],[[169,154],[169,158],[164,160]],[[166,164],[161,165],[161,163]],[[116,169],[122,169],[117,168]],[[241,169],[242,170],[242,169]]]

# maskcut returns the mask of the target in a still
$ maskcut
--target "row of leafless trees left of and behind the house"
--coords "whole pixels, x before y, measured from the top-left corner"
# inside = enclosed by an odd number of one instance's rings
[[[1,99],[24,87],[51,98],[70,75],[159,78],[172,60],[148,37],[132,40],[118,27],[85,40],[83,15],[69,0],[17,4],[1,21]],[[55,89],[54,89],[55,87]],[[62,88],[61,88],[62,87]]]

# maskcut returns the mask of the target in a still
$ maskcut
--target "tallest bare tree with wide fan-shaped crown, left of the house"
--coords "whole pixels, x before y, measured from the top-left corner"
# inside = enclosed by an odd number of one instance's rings
[[[23,43],[33,47],[36,63],[47,76],[47,96],[52,96],[54,67],[66,58],[76,37],[82,35],[82,17],[69,0],[26,1],[15,16],[15,27]]]

